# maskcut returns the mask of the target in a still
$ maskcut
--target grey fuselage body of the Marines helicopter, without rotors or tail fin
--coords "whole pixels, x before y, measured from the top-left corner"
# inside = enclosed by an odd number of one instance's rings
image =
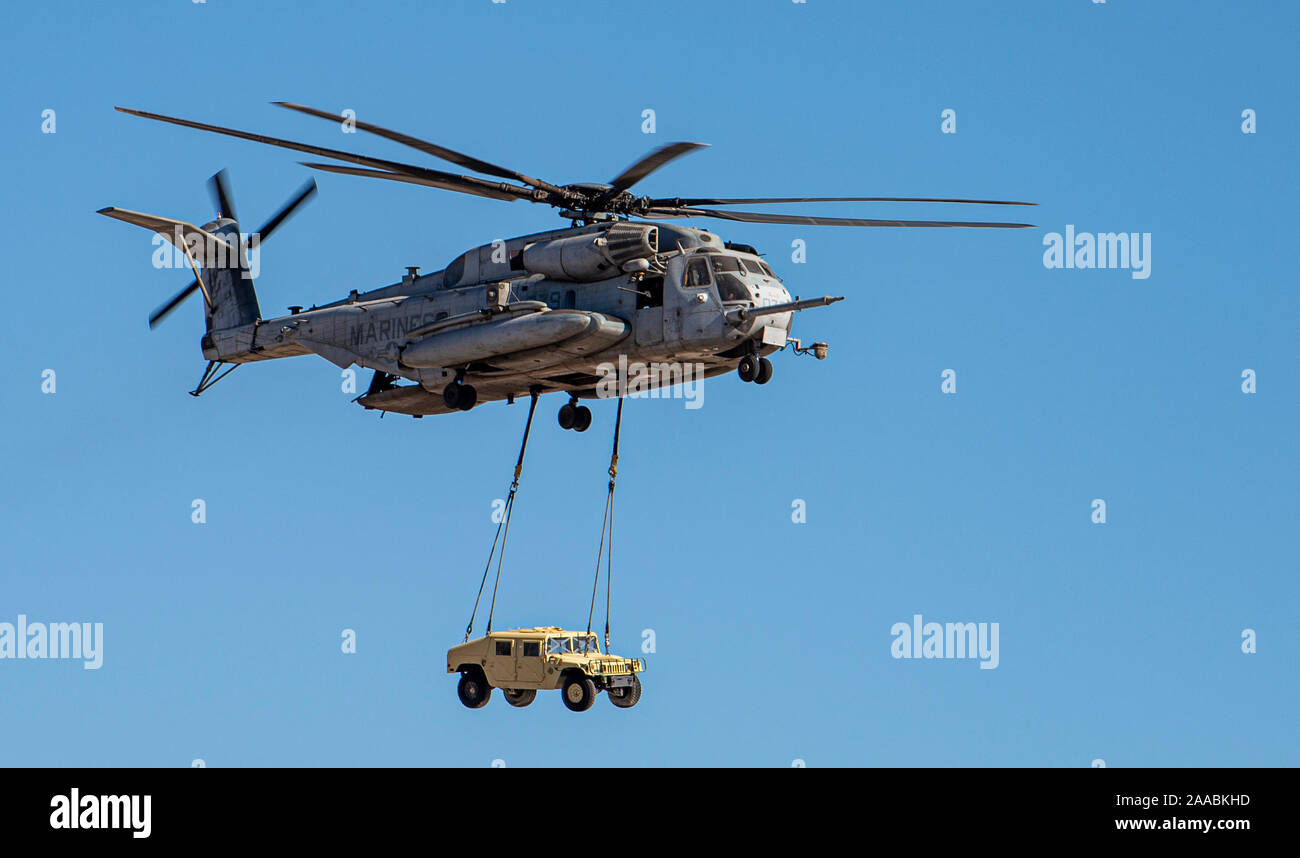
[[[211,330],[203,350],[225,363],[317,354],[365,367],[377,374],[360,404],[422,416],[452,410],[442,391],[455,382],[472,384],[477,402],[534,390],[594,398],[608,395],[610,368],[629,361],[729,372],[785,346],[789,303],[748,246],[614,221],[493,242],[432,274]],[[680,381],[670,372],[645,384]]]

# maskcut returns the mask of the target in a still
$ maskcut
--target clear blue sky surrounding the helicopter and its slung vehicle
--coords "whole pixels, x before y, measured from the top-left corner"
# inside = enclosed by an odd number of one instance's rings
[[[172,0],[4,17],[0,623],[103,623],[104,664],[0,660],[0,763],[1300,764],[1292,5]],[[702,140],[637,190],[1028,199],[1039,228],[703,222],[758,246],[792,292],[846,295],[796,322],[829,359],[779,355],[764,387],[710,381],[697,411],[629,403],[615,645],[640,654],[644,629],[656,645],[634,710],[575,715],[550,694],[471,711],[443,656],[525,410],[380,420],[316,358],[187,396],[199,302],[155,332],[146,317],[188,278],[95,214],[203,222],[225,166],[251,229],[307,174],[291,152],[116,104],[425,162],[277,99],[560,183]],[[266,315],[562,225],[317,181],[263,250]],[[1149,233],[1150,277],[1044,268],[1044,234],[1067,224]],[[586,616],[614,406],[578,436],[559,404],[538,408],[498,628]],[[998,623],[998,667],[892,658],[915,614]]]

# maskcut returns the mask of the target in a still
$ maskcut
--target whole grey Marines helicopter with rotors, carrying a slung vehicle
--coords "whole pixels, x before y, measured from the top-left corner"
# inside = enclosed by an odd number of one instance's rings
[[[650,152],[608,183],[554,185],[369,122],[316,108],[280,107],[344,124],[416,148],[493,179],[445,173],[339,150],[205,125],[156,113],[124,113],[278,146],[339,161],[304,162],[330,173],[424,185],[497,200],[526,200],[560,209],[566,229],[497,240],[456,256],[446,268],[287,316],[263,318],[247,251],[287,220],[315,191],[315,182],[257,233],[243,235],[225,174],[213,177],[217,217],[203,226],[120,208],[101,214],[155,230],[183,252],[195,280],[150,318],[156,325],[182,300],[200,292],[208,367],[194,395],[246,363],[320,355],[338,367],[373,369],[365,408],[416,417],[468,411],[476,403],[523,394],[563,391],[566,429],[585,430],[592,412],[580,399],[608,395],[607,369],[640,365],[701,368],[705,377],[736,369],[744,381],[766,384],[768,355],[790,346],[824,358],[827,344],[790,337],[794,313],[840,300],[792,296],[758,251],[703,229],[670,225],[677,218],[719,218],[810,226],[1024,228],[1028,224],[902,221],[777,214],[712,208],[776,203],[975,203],[1010,200],[935,198],[649,198],[629,191],[654,170],[702,143],[672,143]],[[400,384],[400,382],[413,384]],[[647,387],[682,381],[681,373],[651,373]],[[625,395],[615,385],[614,395]]]

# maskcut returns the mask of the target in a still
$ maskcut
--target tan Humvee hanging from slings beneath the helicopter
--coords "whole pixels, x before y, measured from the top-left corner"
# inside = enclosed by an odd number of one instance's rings
[[[460,673],[456,693],[469,708],[486,706],[494,688],[511,706],[528,706],[540,689],[563,689],[575,712],[592,708],[602,690],[630,708],[641,699],[637,673],[645,670],[642,659],[602,654],[589,632],[554,625],[489,632],[447,651],[447,672]]]

